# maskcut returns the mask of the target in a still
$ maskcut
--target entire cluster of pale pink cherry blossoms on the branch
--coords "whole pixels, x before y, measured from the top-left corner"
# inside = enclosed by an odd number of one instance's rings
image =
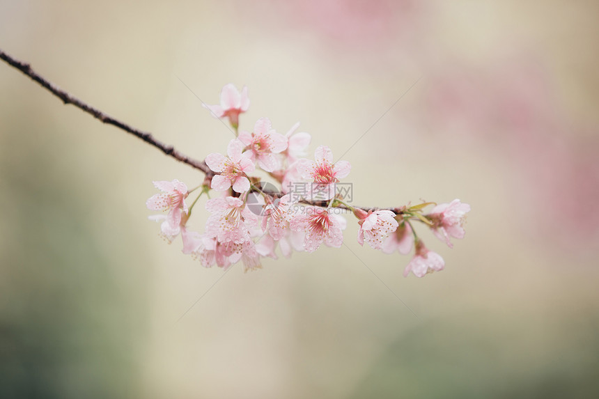
[[[228,118],[236,138],[228,143],[226,155],[214,152],[205,159],[207,175],[199,195],[191,205],[185,202],[196,189],[178,181],[154,182],[162,191],[146,202],[148,209],[168,212],[150,216],[162,221],[161,235],[169,243],[178,235],[183,253],[199,259],[205,267],[228,268],[241,261],[244,270],[258,269],[264,257],[277,258],[277,246],[283,256],[293,251],[313,252],[325,244],[339,248],[347,221],[342,214],[357,218],[357,241],[385,253],[414,257],[404,275],[422,277],[444,268],[439,254],[428,250],[414,232],[412,224],[421,222],[439,239],[452,247],[450,237],[463,238],[466,212],[470,207],[459,200],[423,209],[433,203],[403,206],[389,210],[363,209],[345,203],[338,189],[341,179],[351,170],[347,161],[334,162],[327,146],[319,146],[314,159],[302,158],[311,136],[297,132],[294,125],[287,134],[273,129],[268,118],[260,118],[252,132],[238,130],[239,116],[249,107],[247,88],[240,93],[232,84],[221,92],[221,104],[205,106],[217,118]],[[281,185],[281,192],[260,178],[250,175],[256,169]],[[303,184],[301,192],[294,190]],[[202,194],[215,198],[206,201],[210,212],[204,233],[187,228],[192,209]]]

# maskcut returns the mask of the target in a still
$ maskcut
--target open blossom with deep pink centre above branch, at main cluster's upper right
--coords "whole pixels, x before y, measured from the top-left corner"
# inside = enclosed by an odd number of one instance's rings
[[[299,159],[298,169],[302,178],[313,180],[311,199],[329,200],[335,196],[335,184],[350,174],[352,166],[348,161],[333,164],[333,152],[327,146],[316,148],[314,159]]]

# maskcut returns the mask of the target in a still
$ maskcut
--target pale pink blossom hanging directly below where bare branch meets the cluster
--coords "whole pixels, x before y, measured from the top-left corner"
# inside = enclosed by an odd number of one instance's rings
[[[258,217],[239,198],[212,198],[206,209],[212,212],[206,221],[206,234],[221,243],[243,244],[250,239],[250,229],[258,224]]]

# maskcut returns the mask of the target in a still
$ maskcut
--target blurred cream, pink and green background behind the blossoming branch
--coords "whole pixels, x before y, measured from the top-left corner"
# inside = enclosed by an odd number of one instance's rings
[[[336,157],[357,141],[354,203],[472,205],[453,250],[419,230],[446,261],[423,279],[359,247],[352,217],[349,249],[223,276],[147,219],[152,180],[203,175],[0,63],[0,397],[598,396],[598,12],[0,0],[3,51],[187,155],[224,152],[196,96],[231,82],[242,129],[299,120]]]

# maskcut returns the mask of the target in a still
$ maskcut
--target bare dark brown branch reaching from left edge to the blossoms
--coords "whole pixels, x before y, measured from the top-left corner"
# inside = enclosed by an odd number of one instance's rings
[[[188,157],[187,155],[180,152],[179,150],[176,150],[173,146],[155,139],[152,134],[148,132],[142,132],[141,130],[127,125],[127,123],[123,123],[116,118],[104,114],[104,112],[100,111],[99,109],[92,107],[89,104],[86,104],[86,102],[83,102],[79,100],[77,97],[70,95],[69,93],[63,91],[61,88],[59,88],[52,82],[38,75],[38,73],[35,72],[28,63],[18,61],[17,59],[3,52],[1,49],[0,58],[2,58],[3,61],[8,63],[8,65],[12,66],[13,68],[16,68],[17,70],[20,70],[25,75],[38,82],[38,84],[46,88],[47,91],[63,100],[65,104],[72,104],[75,107],[81,109],[81,111],[84,111],[87,114],[93,116],[94,118],[100,120],[100,122],[102,123],[106,123],[107,125],[113,125],[121,130],[125,130],[125,132],[127,133],[137,136],[139,139],[146,141],[146,143],[150,144],[151,146],[158,148],[159,150],[164,152],[164,154],[169,155],[169,157],[173,157],[177,159],[179,162],[183,162],[184,164],[188,164],[189,166],[192,166],[195,169],[199,169],[200,171],[203,171],[203,173],[205,173],[206,175],[212,176],[215,174],[210,170],[210,168],[208,168],[208,165],[206,165],[205,162],[192,159],[191,157]]]

